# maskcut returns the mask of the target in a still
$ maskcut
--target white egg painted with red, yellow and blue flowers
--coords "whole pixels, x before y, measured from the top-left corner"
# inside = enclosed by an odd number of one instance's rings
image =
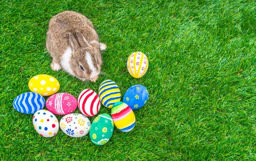
[[[82,114],[71,113],[61,118],[60,127],[65,134],[79,138],[88,134],[90,120]]]

